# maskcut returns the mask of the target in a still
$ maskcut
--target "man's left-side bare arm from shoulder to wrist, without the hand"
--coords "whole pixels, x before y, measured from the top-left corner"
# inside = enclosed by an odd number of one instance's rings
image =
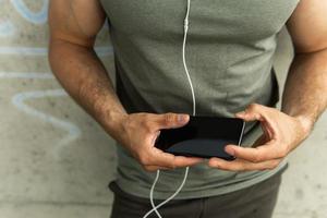
[[[114,136],[126,112],[93,48],[104,22],[98,0],[50,1],[49,61],[70,96]]]

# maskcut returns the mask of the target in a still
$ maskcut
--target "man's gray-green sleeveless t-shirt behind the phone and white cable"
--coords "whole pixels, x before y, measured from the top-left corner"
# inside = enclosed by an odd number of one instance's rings
[[[233,117],[251,102],[276,107],[278,84],[272,70],[277,35],[300,0],[191,0],[186,63],[197,116]],[[114,50],[117,94],[129,113],[183,112],[193,101],[183,63],[186,0],[101,0]],[[243,146],[262,134],[247,124]],[[155,172],[145,171],[118,144],[117,183],[148,197]],[[270,171],[232,172],[201,164],[190,168],[175,198],[219,195],[261,182]],[[154,194],[167,198],[185,169],[164,170]]]

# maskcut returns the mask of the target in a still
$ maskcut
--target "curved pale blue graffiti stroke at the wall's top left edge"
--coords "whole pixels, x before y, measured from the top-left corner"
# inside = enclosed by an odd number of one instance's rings
[[[48,19],[49,0],[43,0],[43,8],[38,12],[31,11],[23,0],[11,0],[15,10],[28,22],[34,24],[44,24]]]

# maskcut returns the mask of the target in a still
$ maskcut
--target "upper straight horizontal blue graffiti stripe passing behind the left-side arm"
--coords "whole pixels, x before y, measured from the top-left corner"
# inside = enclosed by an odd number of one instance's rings
[[[113,48],[111,46],[96,47],[95,51],[98,56],[111,56],[113,55]],[[47,56],[47,48],[35,47],[0,47],[0,55],[16,55],[16,56]]]

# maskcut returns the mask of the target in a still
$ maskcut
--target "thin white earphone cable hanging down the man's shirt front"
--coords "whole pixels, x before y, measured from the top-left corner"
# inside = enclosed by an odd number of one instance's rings
[[[183,39],[182,56],[183,56],[184,70],[185,70],[185,73],[186,73],[186,76],[187,76],[187,80],[189,80],[189,83],[190,83],[190,86],[191,86],[191,92],[192,92],[193,116],[195,116],[195,95],[194,95],[194,89],[193,89],[192,81],[191,81],[191,77],[190,77],[190,74],[189,74],[189,70],[187,70],[187,65],[186,65],[186,61],[185,61],[185,44],[186,44],[186,37],[187,37],[187,31],[189,31],[190,5],[191,5],[191,0],[187,0],[186,15],[185,15],[185,19],[184,19],[184,39]],[[160,204],[158,204],[156,206],[155,203],[154,203],[154,190],[155,190],[156,183],[158,182],[159,174],[160,174],[160,170],[157,170],[157,174],[156,174],[155,181],[154,181],[154,183],[152,185],[150,193],[149,193],[149,198],[150,198],[150,203],[152,203],[153,209],[150,209],[146,215],[144,215],[143,218],[146,218],[153,211],[155,211],[156,215],[159,218],[162,218],[161,215],[159,214],[159,211],[157,209],[159,207],[161,207],[162,205],[165,205],[166,203],[168,203],[170,199],[172,199],[175,195],[178,195],[180,193],[180,191],[183,189],[183,186],[184,186],[184,184],[186,182],[187,174],[189,174],[189,169],[190,169],[190,167],[185,168],[184,179],[183,179],[181,185],[178,187],[178,190],[170,197],[168,197],[166,201],[161,202]]]

